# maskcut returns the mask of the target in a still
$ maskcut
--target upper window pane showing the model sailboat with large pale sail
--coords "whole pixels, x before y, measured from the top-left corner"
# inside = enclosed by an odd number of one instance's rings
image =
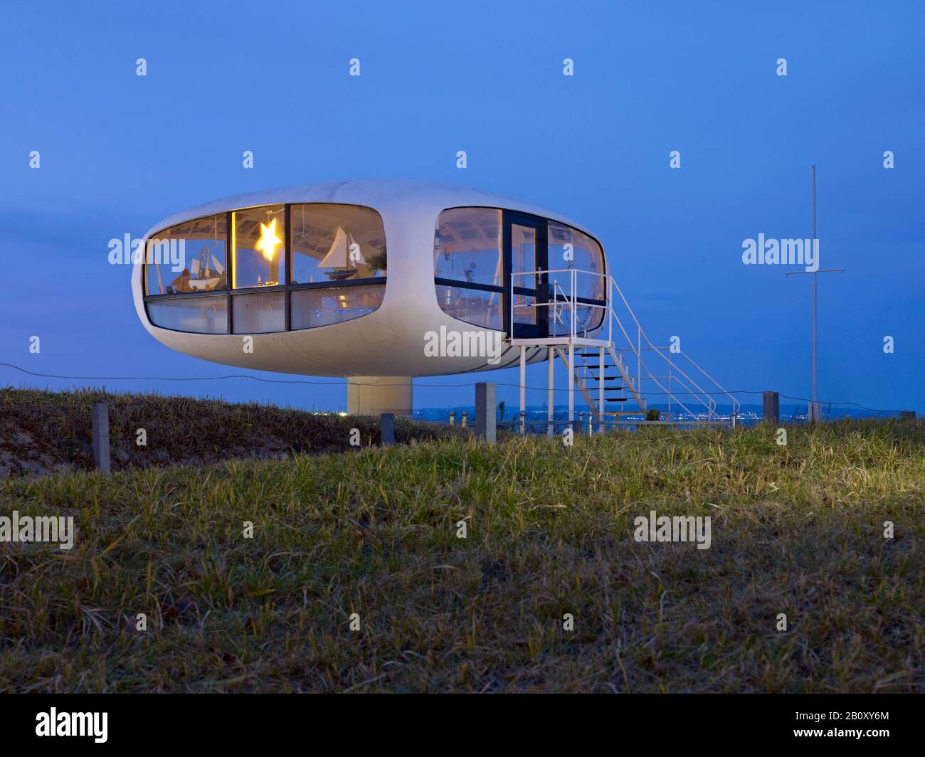
[[[293,284],[386,276],[386,232],[372,208],[291,205],[290,219]]]

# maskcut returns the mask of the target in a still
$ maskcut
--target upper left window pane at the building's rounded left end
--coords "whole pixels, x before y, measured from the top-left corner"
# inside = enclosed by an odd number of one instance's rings
[[[154,234],[145,245],[145,293],[228,288],[226,215],[196,218]]]

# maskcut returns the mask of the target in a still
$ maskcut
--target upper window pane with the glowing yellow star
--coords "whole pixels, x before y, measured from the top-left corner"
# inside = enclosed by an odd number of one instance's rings
[[[264,205],[231,214],[232,286],[274,287],[285,283],[286,212]]]

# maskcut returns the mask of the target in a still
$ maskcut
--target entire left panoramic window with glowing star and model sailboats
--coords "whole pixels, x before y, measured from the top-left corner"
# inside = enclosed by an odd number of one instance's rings
[[[382,217],[369,207],[244,208],[184,221],[150,242],[142,283],[151,322],[163,329],[313,329],[366,316],[385,296],[386,235]],[[287,254],[293,254],[289,282]],[[203,296],[219,291],[225,293]]]

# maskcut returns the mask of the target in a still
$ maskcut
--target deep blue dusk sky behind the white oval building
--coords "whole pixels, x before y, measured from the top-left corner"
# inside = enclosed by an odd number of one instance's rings
[[[819,276],[820,399],[925,412],[923,37],[920,2],[7,4],[0,361],[246,373],[150,337],[109,240],[239,192],[400,178],[573,217],[653,341],[680,336],[727,388],[808,397],[812,277],[746,266],[742,245],[810,236],[816,163],[821,267],[846,269]],[[420,379],[415,406],[471,403],[450,386],[470,379],[517,373]],[[342,381],[320,380],[0,367],[5,385],[343,409]]]

